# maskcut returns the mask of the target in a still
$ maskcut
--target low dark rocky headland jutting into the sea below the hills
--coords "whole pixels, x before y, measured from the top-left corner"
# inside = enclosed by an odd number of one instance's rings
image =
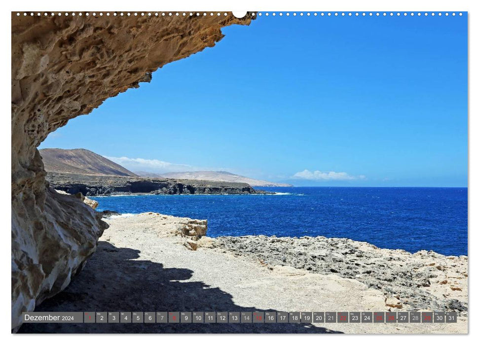
[[[238,182],[76,173],[47,173],[46,179],[56,190],[69,194],[81,193],[88,197],[131,194],[274,194]]]

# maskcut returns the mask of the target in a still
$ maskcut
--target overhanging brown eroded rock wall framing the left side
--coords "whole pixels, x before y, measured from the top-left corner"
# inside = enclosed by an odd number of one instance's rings
[[[69,119],[167,63],[212,47],[227,16],[17,16],[12,13],[12,329],[22,311],[64,289],[107,224],[47,187],[37,146]]]

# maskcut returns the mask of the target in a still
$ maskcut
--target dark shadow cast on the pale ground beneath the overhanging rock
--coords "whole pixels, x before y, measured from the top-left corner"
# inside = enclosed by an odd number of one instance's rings
[[[192,271],[163,268],[139,250],[99,242],[96,253],[66,290],[36,311],[274,311],[237,306],[232,296],[203,282],[184,281]],[[340,333],[307,323],[24,324],[18,333]]]

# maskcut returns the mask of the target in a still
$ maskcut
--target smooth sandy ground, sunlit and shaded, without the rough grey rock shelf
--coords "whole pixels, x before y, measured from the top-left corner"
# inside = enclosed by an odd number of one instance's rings
[[[187,218],[143,213],[108,219],[97,252],[71,285],[36,311],[388,311],[364,283],[264,265],[212,247],[196,251],[179,229]],[[20,333],[467,333],[454,324],[24,324]]]

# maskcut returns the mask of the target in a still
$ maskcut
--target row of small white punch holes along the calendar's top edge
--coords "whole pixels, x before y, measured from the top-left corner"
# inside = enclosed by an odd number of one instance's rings
[[[202,13],[200,13],[200,12],[195,12],[195,13],[193,13],[193,12],[189,12],[189,13],[186,13],[186,12],[182,12],[182,13],[181,12],[141,12],[141,13],[139,13],[139,12],[120,12],[120,13],[117,13],[117,12],[113,12],[113,13],[110,13],[110,12],[106,12],[106,13],[92,12],[91,13],[91,15],[94,16],[94,17],[97,16],[97,15],[99,15],[99,16],[103,16],[103,15],[107,15],[107,16],[110,16],[110,15],[113,15],[113,16],[131,16],[131,15],[133,15],[133,16],[142,16],[142,17],[143,16],[156,16],[156,17],[157,16],[187,16],[187,15],[189,15],[189,16],[207,16],[207,15],[214,16],[215,14],[217,16],[228,15],[227,12],[216,12],[216,13],[214,13],[214,12],[208,12],[208,13],[207,12],[202,12]],[[304,16],[304,15],[306,15],[306,16],[329,16],[329,17],[331,17],[331,16],[335,16],[335,17],[339,17],[339,16],[341,16],[341,17],[345,17],[345,16],[349,16],[349,17],[352,17],[352,16],[356,16],[356,17],[358,17],[358,16],[363,16],[363,17],[370,16],[370,17],[372,17],[374,15],[376,17],[379,17],[381,15],[382,16],[388,16],[388,15],[389,16],[394,16],[394,15],[396,15],[396,16],[414,16],[414,15],[416,15],[416,16],[421,16],[421,15],[428,16],[428,15],[431,15],[431,16],[434,17],[436,14],[438,16],[442,16],[442,14],[444,14],[444,16],[449,16],[449,14],[451,14],[452,16],[455,16],[456,12],[451,12],[451,13],[449,13],[449,12],[444,12],[444,13],[442,13],[442,12],[438,12],[438,13],[436,13],[436,12],[430,12],[430,13],[429,12],[423,12],[423,13],[421,13],[421,12],[417,12],[417,13],[414,13],[414,12],[410,12],[410,13],[407,13],[407,12],[291,12],[291,13],[290,12],[278,12],[278,13],[271,12],[271,15],[273,17],[276,16],[276,15],[278,15],[280,17],[282,17],[282,16],[287,16],[288,17],[290,15],[292,15],[292,16],[297,16],[297,15],[299,15],[299,16]],[[462,12],[459,12],[458,14],[460,16],[462,16]],[[22,15],[22,13],[17,12],[17,16],[20,16],[20,15]],[[37,12],[37,13],[23,12],[23,15],[24,16],[28,16],[28,15],[30,15],[30,16],[34,16],[34,15],[41,16],[42,13],[40,13],[40,12]],[[62,12],[58,12],[58,13],[44,12],[43,15],[44,16],[48,16],[48,15],[50,15],[50,16],[55,16],[55,15],[61,16]],[[65,13],[63,13],[63,15],[65,15],[65,16],[69,16],[69,15],[75,16],[76,13],[75,12],[71,12],[71,13],[65,12]],[[78,13],[78,16],[82,16],[82,15],[89,16],[90,12],[85,12],[84,14],[82,12]],[[252,13],[252,15],[254,16],[255,13]],[[263,15],[267,17],[267,16],[270,15],[270,13],[269,12],[264,12],[264,13],[263,12],[258,12],[258,16],[263,16]]]

